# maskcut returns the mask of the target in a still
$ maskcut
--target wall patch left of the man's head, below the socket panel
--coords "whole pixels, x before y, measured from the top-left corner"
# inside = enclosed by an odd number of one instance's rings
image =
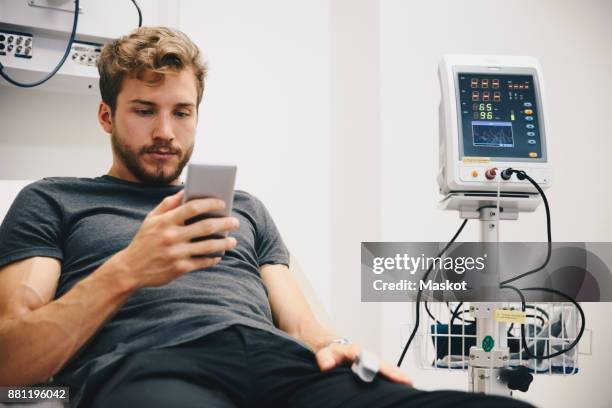
[[[110,169],[99,97],[0,87],[0,179],[95,177]]]

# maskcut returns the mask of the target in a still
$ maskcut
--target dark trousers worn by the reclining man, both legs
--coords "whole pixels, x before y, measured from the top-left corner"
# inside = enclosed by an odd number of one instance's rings
[[[266,331],[231,326],[194,342],[132,354],[85,396],[99,407],[515,407],[508,398],[420,391],[348,365],[322,373],[315,355]]]

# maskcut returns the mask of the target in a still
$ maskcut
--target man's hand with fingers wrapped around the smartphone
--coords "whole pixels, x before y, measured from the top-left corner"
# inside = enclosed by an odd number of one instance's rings
[[[184,204],[184,190],[166,197],[147,214],[130,245],[118,252],[121,282],[129,288],[160,286],[197,269],[221,261],[219,256],[236,246],[228,232],[239,227],[235,217],[211,217],[185,225],[201,214],[223,213],[226,204],[216,198],[192,199]],[[213,238],[198,240],[201,237]],[[209,255],[209,256],[206,256]]]

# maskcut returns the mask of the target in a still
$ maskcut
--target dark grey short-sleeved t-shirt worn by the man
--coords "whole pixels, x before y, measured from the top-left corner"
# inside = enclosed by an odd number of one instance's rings
[[[0,226],[0,267],[33,256],[59,259],[59,298],[129,245],[146,214],[182,188],[108,175],[32,183]],[[270,214],[258,199],[236,191],[232,215],[240,220],[240,228],[230,234],[238,245],[219,264],[136,291],[55,379],[80,388],[89,375],[127,353],[188,342],[233,324],[298,342],[274,326],[259,273],[264,264],[289,265]]]

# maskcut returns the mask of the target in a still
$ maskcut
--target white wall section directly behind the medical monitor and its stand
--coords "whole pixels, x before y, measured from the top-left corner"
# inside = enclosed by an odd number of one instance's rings
[[[444,53],[533,55],[544,70],[551,156],[553,239],[612,240],[612,3],[607,0],[381,2],[381,140],[383,241],[445,241],[459,225],[442,212],[435,182],[439,101],[437,64]],[[543,208],[504,222],[507,241],[544,241]],[[462,240],[477,240],[472,221]],[[581,373],[537,378],[526,399],[543,407],[610,406],[605,383],[612,357],[609,304],[585,305],[594,356]],[[396,361],[400,327],[412,321],[404,304],[383,306],[383,350]],[[405,363],[417,385],[466,389],[465,374],[423,371]],[[522,395],[522,394],[521,394]]]

